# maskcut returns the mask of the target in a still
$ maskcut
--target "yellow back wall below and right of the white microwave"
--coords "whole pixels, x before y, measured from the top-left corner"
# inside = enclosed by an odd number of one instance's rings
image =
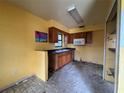
[[[103,64],[104,31],[103,30],[93,31],[92,44],[87,44],[86,46],[69,45],[69,47],[76,48],[76,52],[75,52],[76,60]]]

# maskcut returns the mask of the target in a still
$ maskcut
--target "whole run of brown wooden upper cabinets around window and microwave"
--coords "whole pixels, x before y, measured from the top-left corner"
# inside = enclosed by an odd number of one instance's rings
[[[67,33],[58,28],[50,27],[49,28],[49,42],[57,43],[58,42],[58,33],[62,33],[67,37],[67,43],[72,44],[74,39],[85,38],[86,44],[92,43],[92,34],[93,32],[79,32],[79,33]]]

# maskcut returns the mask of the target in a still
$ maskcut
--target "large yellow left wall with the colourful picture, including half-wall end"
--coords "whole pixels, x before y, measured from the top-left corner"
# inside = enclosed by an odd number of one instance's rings
[[[32,74],[47,79],[47,53],[35,50],[54,48],[54,44],[35,43],[34,31],[48,32],[49,26],[20,7],[0,3],[0,88]]]

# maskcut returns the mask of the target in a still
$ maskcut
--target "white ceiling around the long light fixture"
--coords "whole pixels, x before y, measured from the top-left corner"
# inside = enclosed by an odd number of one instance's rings
[[[67,13],[75,5],[85,25],[103,24],[109,9],[110,0],[7,0],[46,20],[54,19],[63,25],[74,28],[77,24]]]

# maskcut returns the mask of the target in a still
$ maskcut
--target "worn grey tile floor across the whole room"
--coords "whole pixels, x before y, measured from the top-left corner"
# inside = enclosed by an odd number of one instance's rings
[[[1,93],[114,93],[114,84],[102,79],[102,66],[73,62],[43,82],[31,77]]]

